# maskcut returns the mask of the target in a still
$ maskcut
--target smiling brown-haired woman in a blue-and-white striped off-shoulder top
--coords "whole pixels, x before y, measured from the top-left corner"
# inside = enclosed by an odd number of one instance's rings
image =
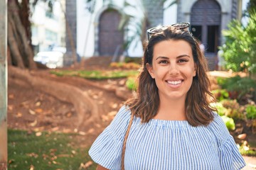
[[[189,23],[151,28],[137,97],[89,154],[97,169],[242,169],[245,162],[213,100],[207,63]]]

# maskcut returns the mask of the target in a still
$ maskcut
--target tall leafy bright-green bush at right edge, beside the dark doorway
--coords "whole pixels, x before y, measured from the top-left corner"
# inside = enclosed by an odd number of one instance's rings
[[[223,30],[225,44],[223,50],[225,67],[234,72],[256,73],[256,10],[250,13],[247,26],[240,21],[229,23],[228,30]]]

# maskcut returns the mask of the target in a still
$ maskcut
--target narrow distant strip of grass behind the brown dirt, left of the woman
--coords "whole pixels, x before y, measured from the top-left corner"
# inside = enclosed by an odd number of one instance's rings
[[[59,70],[59,71],[51,71],[51,74],[55,74],[57,76],[73,76],[73,77],[82,77],[85,79],[117,79],[130,77],[138,74],[137,70],[114,70],[114,71],[99,71],[99,70]]]

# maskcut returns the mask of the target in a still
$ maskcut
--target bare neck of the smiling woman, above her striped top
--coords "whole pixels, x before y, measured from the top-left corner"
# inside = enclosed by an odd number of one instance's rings
[[[187,120],[185,100],[186,98],[176,98],[175,100],[160,98],[159,111],[154,119]]]

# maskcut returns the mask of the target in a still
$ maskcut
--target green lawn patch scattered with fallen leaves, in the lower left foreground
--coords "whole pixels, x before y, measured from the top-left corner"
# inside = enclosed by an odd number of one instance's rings
[[[80,148],[75,134],[43,132],[36,136],[8,130],[8,169],[79,169],[91,161],[88,148]],[[96,169],[93,164],[87,169]]]

